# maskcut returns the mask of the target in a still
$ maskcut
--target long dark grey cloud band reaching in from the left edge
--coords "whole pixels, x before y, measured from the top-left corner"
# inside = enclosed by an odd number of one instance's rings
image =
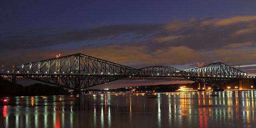
[[[79,30],[38,29],[4,34],[5,36],[1,36],[0,42],[4,50],[41,48],[84,40],[113,40],[118,38],[118,35],[128,33],[142,37],[161,30],[162,27],[162,24],[132,24]]]

